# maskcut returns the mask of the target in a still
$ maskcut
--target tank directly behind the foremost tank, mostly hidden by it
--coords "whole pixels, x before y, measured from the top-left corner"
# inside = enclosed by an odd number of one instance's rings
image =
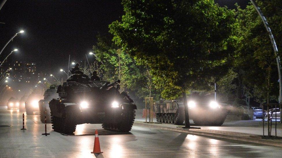
[[[49,108],[49,101],[51,101],[53,98],[59,98],[59,95],[57,94],[56,85],[50,85],[49,89],[47,89],[44,94],[44,99],[39,100],[39,115],[40,115],[40,121],[42,123],[45,123],[45,116],[46,116],[46,123],[51,123],[51,112]]]

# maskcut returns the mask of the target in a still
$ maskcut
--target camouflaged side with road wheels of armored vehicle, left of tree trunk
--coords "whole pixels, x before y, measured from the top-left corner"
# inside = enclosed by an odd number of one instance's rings
[[[182,125],[184,104],[180,100],[160,100],[154,103],[157,122]]]

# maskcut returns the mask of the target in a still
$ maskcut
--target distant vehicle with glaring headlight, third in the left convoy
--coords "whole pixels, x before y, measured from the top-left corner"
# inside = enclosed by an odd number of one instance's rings
[[[33,115],[33,112],[39,111],[38,101],[42,99],[43,96],[38,91],[33,91],[25,101],[25,111],[27,115]]]

